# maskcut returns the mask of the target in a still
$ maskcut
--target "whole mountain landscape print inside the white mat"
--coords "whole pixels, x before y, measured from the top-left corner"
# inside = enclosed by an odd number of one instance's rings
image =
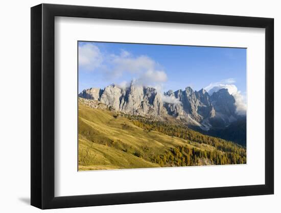
[[[246,49],[78,42],[78,170],[245,164]]]

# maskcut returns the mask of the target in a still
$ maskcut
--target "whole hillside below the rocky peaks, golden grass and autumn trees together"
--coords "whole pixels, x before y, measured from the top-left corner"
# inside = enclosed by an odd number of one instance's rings
[[[145,126],[148,122],[150,126],[155,123],[112,111],[99,102],[79,98],[79,170],[246,162],[243,147],[221,139],[216,144],[217,139],[209,136],[202,143],[204,135],[192,130],[188,130],[189,135],[192,133],[194,136],[192,138],[174,136],[165,128],[181,127],[160,125],[163,128],[153,130]],[[227,144],[227,150],[221,148],[223,143]]]

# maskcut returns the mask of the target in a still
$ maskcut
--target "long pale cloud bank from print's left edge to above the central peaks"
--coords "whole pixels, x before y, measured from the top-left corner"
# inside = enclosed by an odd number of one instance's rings
[[[79,68],[81,72],[93,72],[100,68],[99,71],[105,79],[114,81],[129,74],[142,85],[155,85],[168,80],[160,65],[146,55],[134,56],[124,49],[121,49],[119,54],[103,54],[98,46],[92,43],[79,46]]]

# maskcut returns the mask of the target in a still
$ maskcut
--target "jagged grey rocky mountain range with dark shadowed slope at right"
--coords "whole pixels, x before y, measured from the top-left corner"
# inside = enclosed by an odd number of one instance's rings
[[[104,89],[84,89],[78,96],[97,100],[126,114],[159,120],[172,116],[205,134],[238,141],[232,134],[235,132],[235,135],[243,135],[239,138],[239,144],[246,144],[246,128],[241,128],[241,125],[246,127],[246,116],[237,113],[235,98],[227,89],[220,89],[212,95],[204,89],[194,91],[191,87],[160,93],[153,87],[131,83],[126,88],[112,84]],[[228,127],[233,128],[229,130]]]

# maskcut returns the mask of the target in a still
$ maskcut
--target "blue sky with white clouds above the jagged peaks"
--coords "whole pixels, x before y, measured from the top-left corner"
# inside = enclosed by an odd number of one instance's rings
[[[132,79],[161,90],[235,85],[246,93],[246,49],[79,42],[79,92]]]

